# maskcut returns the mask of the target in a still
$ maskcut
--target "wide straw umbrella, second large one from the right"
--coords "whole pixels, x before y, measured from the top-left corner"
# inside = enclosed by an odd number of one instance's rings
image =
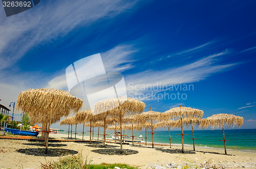
[[[163,112],[163,114],[161,115],[163,119],[165,120],[169,120],[169,119],[180,119],[180,123],[181,123],[181,139],[182,139],[182,153],[184,153],[184,138],[183,136],[185,134],[183,134],[183,122],[182,119],[185,117],[198,117],[198,118],[202,118],[203,117],[203,110],[197,109],[197,108],[191,108],[191,107],[175,107],[175,108],[171,108],[165,112]]]

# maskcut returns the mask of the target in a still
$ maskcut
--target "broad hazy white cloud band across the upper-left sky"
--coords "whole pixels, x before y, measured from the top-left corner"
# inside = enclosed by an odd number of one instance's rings
[[[136,2],[47,1],[11,17],[0,16],[0,70],[15,64],[36,45],[64,37],[78,27],[114,17]]]

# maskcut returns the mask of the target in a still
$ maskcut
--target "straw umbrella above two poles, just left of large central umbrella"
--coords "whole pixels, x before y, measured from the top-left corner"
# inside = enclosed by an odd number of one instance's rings
[[[83,128],[82,128],[82,140],[83,140],[83,134],[86,133],[84,132],[84,124],[87,123],[87,122],[90,122],[90,124],[92,124],[92,121],[95,120],[94,116],[92,115],[92,109],[88,109],[88,110],[83,110],[83,111],[78,111],[75,115],[75,120],[78,122],[78,123],[83,123]],[[92,142],[91,140],[91,128],[92,126],[90,127],[90,143]]]

